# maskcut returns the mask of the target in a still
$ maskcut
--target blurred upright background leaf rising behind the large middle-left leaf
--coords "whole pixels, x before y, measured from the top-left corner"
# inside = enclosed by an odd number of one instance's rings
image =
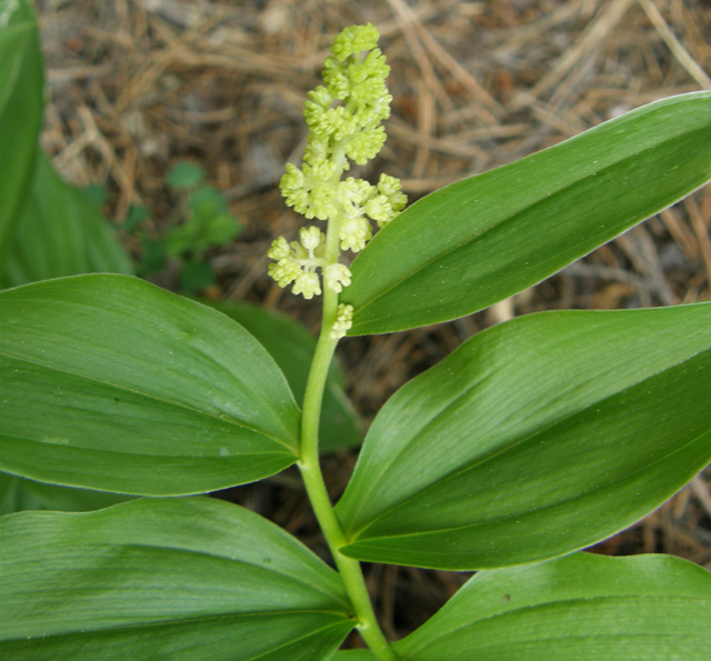
[[[131,273],[131,261],[99,210],[40,152],[3,284],[91,272]]]

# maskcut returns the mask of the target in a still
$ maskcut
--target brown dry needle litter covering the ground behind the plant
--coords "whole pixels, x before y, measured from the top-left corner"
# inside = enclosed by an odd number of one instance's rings
[[[401,177],[411,199],[512,161],[654,99],[711,89],[711,8],[702,0],[46,0],[40,2],[51,99],[43,146],[79,184],[107,183],[108,214],[132,203],[170,211],[163,178],[178,158],[202,163],[247,226],[212,256],[212,296],[261,301],[311,328],[303,307],[264,277],[276,234],[299,219],[276,183],[303,148],[301,108],[332,37],[380,27],[392,67],[390,136],[371,171]],[[503,193],[505,194],[505,192]],[[365,421],[413,374],[502,317],[551,308],[624,308],[708,299],[711,188],[520,294],[451,324],[343,343],[353,400]],[[353,454],[330,458],[344,488]],[[515,485],[512,485],[514,488]],[[241,502],[320,548],[289,472],[237,490]],[[711,567],[711,498],[697,478],[611,553],[671,552]],[[388,633],[400,637],[462,577],[373,568]]]

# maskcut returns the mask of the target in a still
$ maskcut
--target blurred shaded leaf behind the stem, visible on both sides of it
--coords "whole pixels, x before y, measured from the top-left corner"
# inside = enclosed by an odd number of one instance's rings
[[[309,368],[316,351],[313,335],[300,323],[274,312],[242,303],[209,302],[242,324],[277,361],[299,405],[303,402]],[[326,382],[319,431],[321,451],[359,445],[362,441],[358,414],[343,390],[346,379],[333,361]]]

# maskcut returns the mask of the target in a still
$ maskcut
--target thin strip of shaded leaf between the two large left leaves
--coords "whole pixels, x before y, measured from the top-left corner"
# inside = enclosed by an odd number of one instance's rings
[[[0,515],[26,510],[88,512],[131,500],[132,495],[72,489],[0,473]]]

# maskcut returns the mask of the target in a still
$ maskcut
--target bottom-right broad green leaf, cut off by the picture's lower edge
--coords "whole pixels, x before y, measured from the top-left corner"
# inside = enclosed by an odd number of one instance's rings
[[[475,574],[402,661],[707,661],[711,574],[669,555],[574,553]]]

